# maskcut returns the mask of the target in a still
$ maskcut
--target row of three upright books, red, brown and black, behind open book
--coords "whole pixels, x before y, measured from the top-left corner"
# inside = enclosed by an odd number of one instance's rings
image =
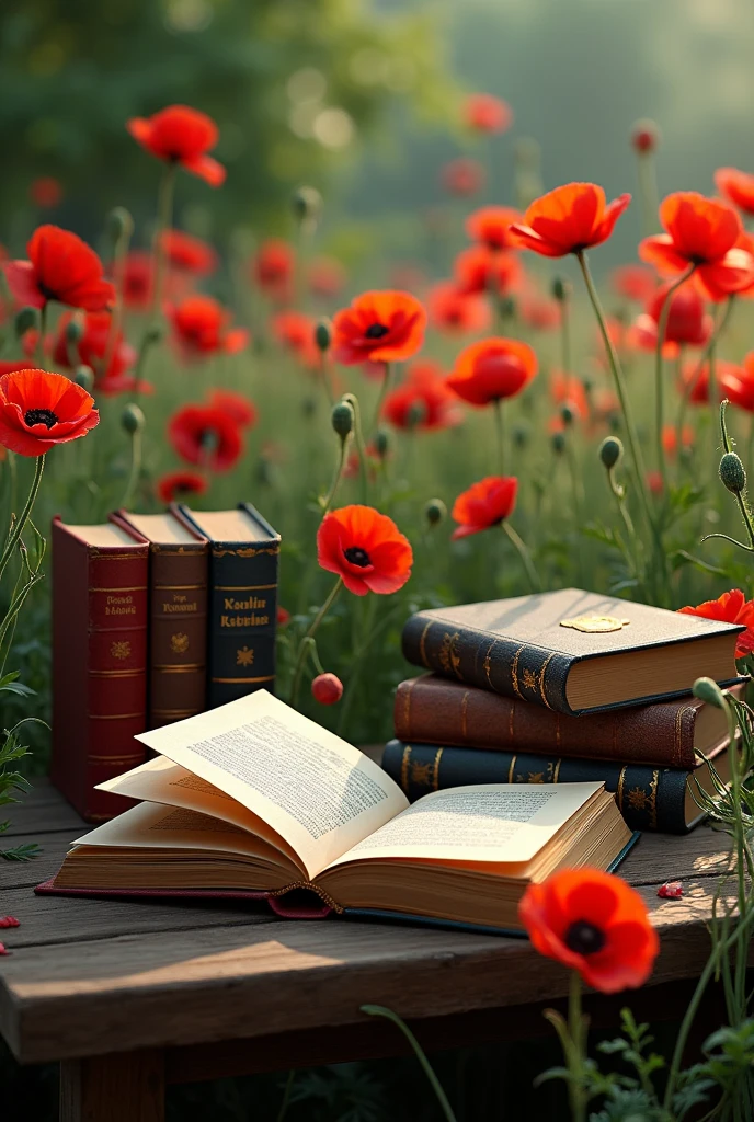
[[[250,504],[53,521],[52,779],[101,821],[96,790],[145,760],[135,736],[275,683],[279,534]]]

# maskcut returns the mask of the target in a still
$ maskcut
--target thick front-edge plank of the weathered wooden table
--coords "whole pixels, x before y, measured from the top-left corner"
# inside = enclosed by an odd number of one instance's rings
[[[680,901],[641,889],[661,934],[653,982],[707,958],[714,881]],[[2,962],[0,1029],[22,1060],[359,1021],[359,1006],[443,1017],[563,996],[524,939],[355,921],[270,922],[30,947]]]

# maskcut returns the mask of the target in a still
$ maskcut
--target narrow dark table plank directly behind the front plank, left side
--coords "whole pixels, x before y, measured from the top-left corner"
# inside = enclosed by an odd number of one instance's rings
[[[148,936],[154,931],[190,931],[199,927],[275,922],[264,903],[159,902],[154,900],[96,900],[72,896],[35,896],[29,889],[2,892],[3,914],[15,916],[20,927],[6,932],[11,949],[61,942],[84,944],[125,932]],[[85,958],[85,951],[81,955]]]

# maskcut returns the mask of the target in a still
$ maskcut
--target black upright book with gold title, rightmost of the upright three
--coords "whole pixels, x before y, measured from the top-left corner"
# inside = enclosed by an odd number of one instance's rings
[[[209,540],[206,707],[275,689],[281,535],[250,503],[178,517]]]

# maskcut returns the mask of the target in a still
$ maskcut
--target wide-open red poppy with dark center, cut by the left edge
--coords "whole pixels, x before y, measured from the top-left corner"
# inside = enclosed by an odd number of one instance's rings
[[[62,374],[27,369],[0,378],[0,444],[11,452],[44,456],[99,422],[94,398]]]

